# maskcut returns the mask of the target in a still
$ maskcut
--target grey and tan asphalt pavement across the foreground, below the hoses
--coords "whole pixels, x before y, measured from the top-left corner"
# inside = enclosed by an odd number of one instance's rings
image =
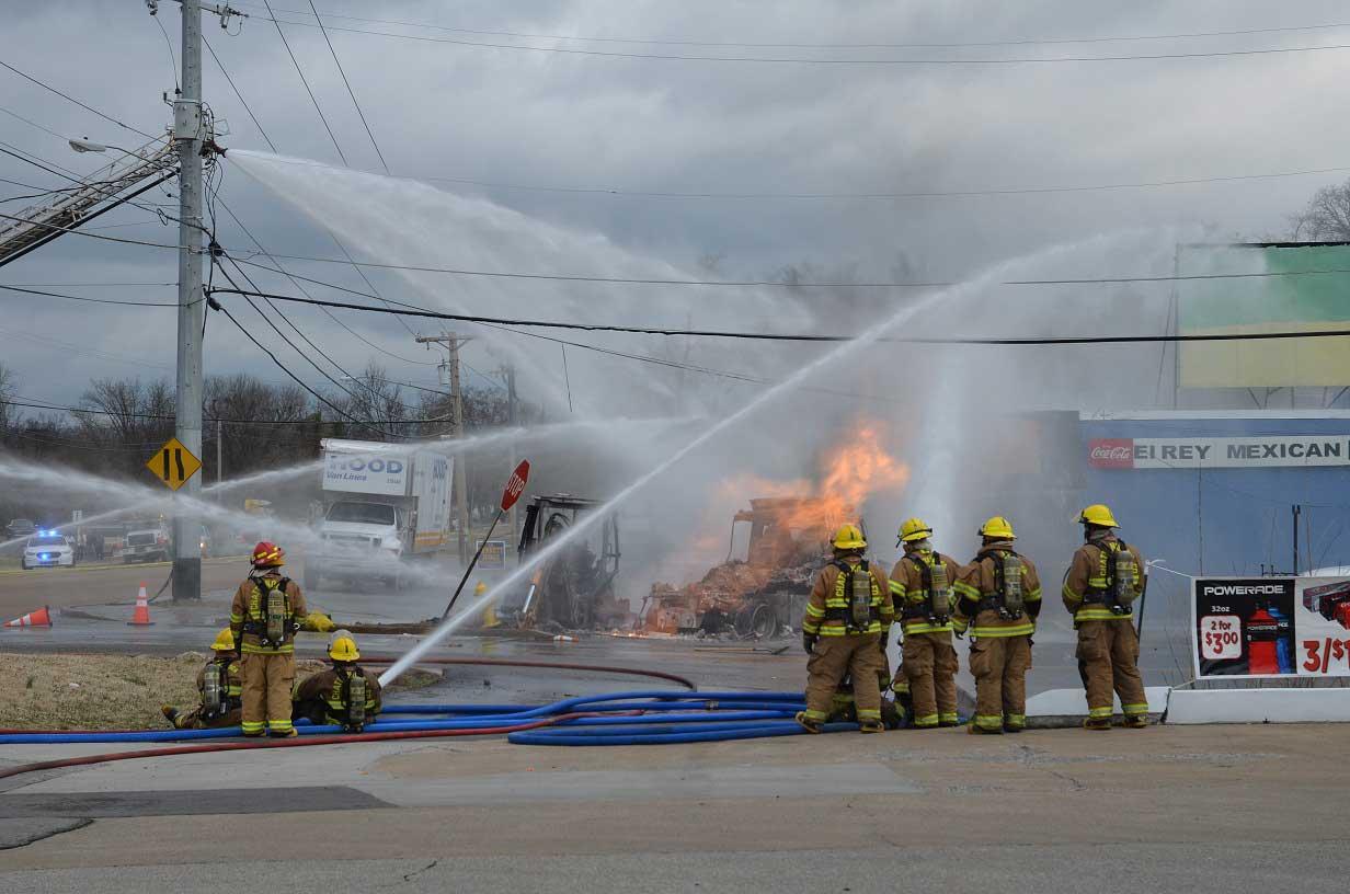
[[[0,890],[217,891],[225,874],[290,891],[1331,891],[1343,739],[462,739],[128,762],[0,794],[0,824],[47,835],[0,851]]]

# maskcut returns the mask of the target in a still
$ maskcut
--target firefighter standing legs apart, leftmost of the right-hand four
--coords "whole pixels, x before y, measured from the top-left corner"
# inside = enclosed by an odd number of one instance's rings
[[[850,674],[859,729],[882,732],[882,644],[895,619],[890,585],[880,566],[863,558],[867,540],[857,525],[841,527],[833,546],[834,559],[815,578],[802,619],[802,646],[811,658],[806,663],[806,710],[796,714],[796,722],[807,732],[819,732],[836,686]]]

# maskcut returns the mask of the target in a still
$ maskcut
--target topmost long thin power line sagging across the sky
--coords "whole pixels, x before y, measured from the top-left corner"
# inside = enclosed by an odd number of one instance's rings
[[[262,8],[255,3],[240,3],[239,5]],[[313,5],[313,4],[310,4]],[[304,9],[282,9],[277,8],[277,12],[284,12],[286,15],[309,15]],[[316,11],[317,18],[317,11]],[[1288,31],[1320,31],[1327,28],[1345,28],[1350,27],[1350,23],[1323,23],[1323,24],[1304,24],[1304,26],[1280,26],[1270,28],[1243,28],[1235,31],[1191,31],[1181,34],[1146,34],[1146,35],[1126,35],[1126,36],[1096,36],[1096,38],[1019,38],[1008,41],[968,41],[963,43],[748,43],[748,42],[714,42],[714,41],[688,41],[688,39],[653,39],[653,38],[599,38],[599,36],[583,36],[583,35],[564,35],[564,34],[529,34],[521,31],[489,31],[489,30],[475,30],[475,28],[454,28],[441,24],[433,24],[431,22],[406,22],[397,19],[366,19],[360,16],[339,15],[336,12],[325,12],[331,19],[344,19],[348,22],[366,22],[370,24],[398,24],[412,28],[431,28],[435,31],[452,31],[456,34],[481,34],[481,35],[495,35],[508,38],[528,38],[537,41],[580,41],[580,42],[594,42],[594,43],[647,43],[655,46],[711,46],[711,47],[747,47],[747,49],[798,49],[798,50],[898,50],[898,49],[963,49],[963,47],[988,47],[988,46],[1040,46],[1040,45],[1056,45],[1056,43],[1112,43],[1125,41],[1180,41],[1189,38],[1216,38],[1216,36],[1245,36],[1253,34],[1280,34]]]

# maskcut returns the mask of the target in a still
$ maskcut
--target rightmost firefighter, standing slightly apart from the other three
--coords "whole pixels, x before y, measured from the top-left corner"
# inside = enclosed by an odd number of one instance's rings
[[[1079,632],[1079,675],[1088,698],[1087,729],[1110,729],[1114,695],[1125,725],[1149,725],[1149,700],[1139,678],[1134,601],[1143,591],[1143,556],[1115,536],[1115,516],[1094,504],[1079,513],[1085,543],[1064,575],[1064,608]]]

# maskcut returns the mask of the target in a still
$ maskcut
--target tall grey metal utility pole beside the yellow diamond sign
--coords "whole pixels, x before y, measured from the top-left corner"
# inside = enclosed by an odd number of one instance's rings
[[[182,89],[173,104],[178,147],[178,389],[174,436],[201,455],[201,0],[182,0]],[[173,601],[201,598],[201,540],[188,500],[201,496],[193,475],[174,493]]]

